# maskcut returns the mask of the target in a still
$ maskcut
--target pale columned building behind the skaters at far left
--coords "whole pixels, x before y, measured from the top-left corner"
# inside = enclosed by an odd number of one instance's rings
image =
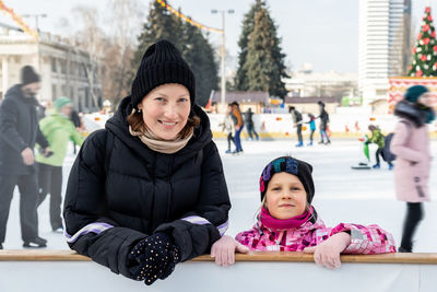
[[[1,25],[0,25],[1,26]],[[80,112],[92,112],[101,107],[102,97],[92,98],[85,66],[86,52],[69,45],[59,36],[42,33],[39,40],[10,26],[0,27],[0,84],[1,96],[12,85],[21,82],[21,68],[29,65],[42,77],[42,90],[37,95],[40,103],[57,97],[70,97]],[[95,82],[94,89],[99,91]]]

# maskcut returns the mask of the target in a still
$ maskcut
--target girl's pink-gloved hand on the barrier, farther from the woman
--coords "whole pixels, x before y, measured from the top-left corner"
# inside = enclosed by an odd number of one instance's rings
[[[317,246],[306,247],[304,253],[314,254],[315,261],[319,267],[338,269],[341,266],[340,254],[351,244],[351,235],[340,232]]]

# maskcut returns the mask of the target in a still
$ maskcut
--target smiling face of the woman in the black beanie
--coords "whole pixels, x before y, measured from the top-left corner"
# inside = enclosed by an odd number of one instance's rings
[[[191,101],[188,90],[169,83],[151,91],[138,105],[147,128],[160,139],[174,140],[187,125]]]

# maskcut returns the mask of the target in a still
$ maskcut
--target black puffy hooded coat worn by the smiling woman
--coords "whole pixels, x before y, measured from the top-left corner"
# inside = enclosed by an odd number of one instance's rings
[[[128,96],[106,129],[86,139],[70,173],[63,210],[70,247],[130,278],[127,255],[141,238],[166,232],[188,260],[220,238],[217,226],[225,225],[231,209],[204,112],[194,106],[201,125],[189,143],[162,154],[129,133],[131,110]]]

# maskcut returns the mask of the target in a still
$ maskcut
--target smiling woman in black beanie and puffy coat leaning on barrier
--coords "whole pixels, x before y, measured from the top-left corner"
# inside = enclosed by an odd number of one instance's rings
[[[146,284],[209,253],[227,229],[222,161],[194,82],[172,43],[147,48],[131,95],[85,140],[68,182],[69,246]]]

